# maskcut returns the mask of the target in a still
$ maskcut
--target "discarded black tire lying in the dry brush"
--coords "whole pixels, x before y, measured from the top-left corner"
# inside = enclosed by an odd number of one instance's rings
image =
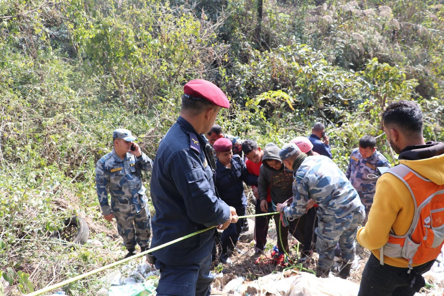
[[[89,226],[83,218],[73,216],[64,222],[65,227],[54,231],[50,237],[57,237],[64,241],[84,245],[89,237]]]

